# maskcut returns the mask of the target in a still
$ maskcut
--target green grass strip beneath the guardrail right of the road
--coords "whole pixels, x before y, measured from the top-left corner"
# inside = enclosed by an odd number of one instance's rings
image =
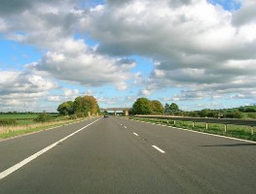
[[[200,131],[204,133],[216,134],[221,136],[228,136],[243,140],[251,140],[256,141],[256,129],[254,129],[254,135],[251,135],[251,127],[249,126],[241,126],[241,125],[227,125],[227,131],[225,132],[225,125],[218,124],[218,123],[208,123],[206,129],[206,123],[203,122],[195,122],[193,127],[192,121],[181,121],[176,120],[167,120],[167,119],[158,119],[158,118],[138,118],[138,117],[131,117],[131,119],[163,124],[166,126],[173,126],[178,128],[184,128],[194,131]]]

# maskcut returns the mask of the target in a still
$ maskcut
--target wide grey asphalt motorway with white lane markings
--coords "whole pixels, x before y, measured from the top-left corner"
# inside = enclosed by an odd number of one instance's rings
[[[0,193],[255,194],[256,144],[92,118],[1,141]]]

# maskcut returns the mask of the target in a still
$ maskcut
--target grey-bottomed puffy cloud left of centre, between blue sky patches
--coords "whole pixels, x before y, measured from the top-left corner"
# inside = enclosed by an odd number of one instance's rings
[[[43,71],[61,81],[86,86],[114,84],[119,89],[127,88],[126,81],[131,78],[129,70],[134,67],[133,63],[126,64],[126,60],[112,59],[91,49],[78,49],[75,55],[73,51],[76,47],[71,51],[62,49],[59,52],[48,51],[40,61],[27,67],[34,71]]]

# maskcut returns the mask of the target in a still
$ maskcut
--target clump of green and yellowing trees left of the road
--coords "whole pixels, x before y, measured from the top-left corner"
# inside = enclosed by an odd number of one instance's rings
[[[74,115],[77,117],[96,115],[100,113],[97,100],[93,96],[79,96],[74,101],[61,103],[57,112],[62,115]]]

